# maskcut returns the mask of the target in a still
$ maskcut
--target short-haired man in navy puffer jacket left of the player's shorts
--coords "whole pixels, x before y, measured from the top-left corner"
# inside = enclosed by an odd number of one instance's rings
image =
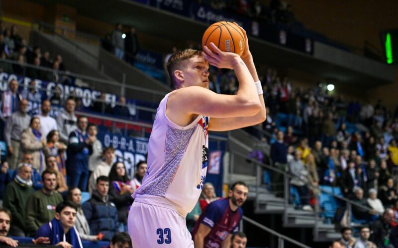
[[[101,233],[102,240],[111,240],[118,231],[117,209],[111,197],[108,195],[109,178],[100,176],[97,178],[96,190],[92,198],[83,204],[83,212],[86,216],[92,234]]]

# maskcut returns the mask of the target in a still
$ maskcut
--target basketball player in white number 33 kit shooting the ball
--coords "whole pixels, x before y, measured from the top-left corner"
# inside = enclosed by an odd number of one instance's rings
[[[232,130],[265,120],[261,83],[242,32],[246,49],[241,57],[210,44],[215,53],[207,47],[204,52],[188,49],[167,62],[176,90],[157,109],[148,143],[148,170],[133,194],[128,230],[134,248],[193,248],[185,217],[205,181],[208,130]],[[236,95],[208,89],[209,63],[235,71]]]

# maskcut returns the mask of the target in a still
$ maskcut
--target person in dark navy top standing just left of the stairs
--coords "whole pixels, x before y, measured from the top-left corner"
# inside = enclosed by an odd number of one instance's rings
[[[287,152],[288,147],[284,143],[284,134],[282,131],[278,131],[277,140],[271,145],[271,159],[274,163],[274,167],[284,172],[288,169]],[[280,194],[284,188],[283,184],[281,184],[283,174],[274,172],[272,179],[274,190],[278,191],[278,194]]]

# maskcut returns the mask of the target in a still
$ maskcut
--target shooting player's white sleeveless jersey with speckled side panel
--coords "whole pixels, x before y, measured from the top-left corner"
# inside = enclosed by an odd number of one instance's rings
[[[133,197],[155,205],[171,202],[185,216],[197,203],[206,178],[209,118],[199,116],[187,126],[171,122],[166,116],[169,94],[157,109],[148,143],[147,174]]]

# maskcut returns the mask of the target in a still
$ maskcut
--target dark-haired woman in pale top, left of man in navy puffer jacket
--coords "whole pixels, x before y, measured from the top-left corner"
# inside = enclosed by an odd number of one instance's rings
[[[99,235],[91,235],[89,222],[82,210],[82,191],[78,187],[72,187],[68,190],[67,200],[72,201],[77,206],[75,228],[79,232],[80,238],[88,241],[100,240]]]

